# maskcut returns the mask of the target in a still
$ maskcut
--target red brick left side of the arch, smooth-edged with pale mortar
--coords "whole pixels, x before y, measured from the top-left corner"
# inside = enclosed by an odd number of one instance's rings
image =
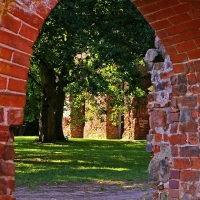
[[[0,3],[0,200],[15,199],[14,136],[9,129],[23,122],[32,46],[56,3],[30,2],[26,8],[8,4],[5,12]]]

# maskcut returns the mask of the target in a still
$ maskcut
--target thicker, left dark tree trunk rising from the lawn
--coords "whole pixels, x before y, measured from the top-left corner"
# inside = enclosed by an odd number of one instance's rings
[[[41,77],[41,112],[40,112],[40,142],[54,142],[55,113],[55,73],[51,68],[40,62]]]

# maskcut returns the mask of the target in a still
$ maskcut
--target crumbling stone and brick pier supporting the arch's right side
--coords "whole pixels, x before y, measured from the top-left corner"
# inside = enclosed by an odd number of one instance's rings
[[[158,190],[155,199],[199,199],[200,61],[186,63],[184,71],[175,74],[158,37],[155,47],[145,57],[154,85],[147,105],[146,150],[153,156],[149,184]],[[164,62],[156,61],[159,54]]]

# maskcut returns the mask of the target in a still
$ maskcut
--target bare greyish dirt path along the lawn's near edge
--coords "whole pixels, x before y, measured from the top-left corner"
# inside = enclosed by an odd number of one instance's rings
[[[17,200],[138,200],[152,192],[147,184],[67,183],[42,185],[35,190],[17,187],[15,197]]]

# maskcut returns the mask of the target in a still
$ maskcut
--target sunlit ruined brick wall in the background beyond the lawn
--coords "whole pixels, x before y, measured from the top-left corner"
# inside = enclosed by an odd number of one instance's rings
[[[148,87],[149,87],[149,82]],[[146,85],[147,87],[147,85]],[[64,134],[72,138],[95,138],[95,139],[130,139],[143,140],[149,132],[149,116],[147,113],[147,98],[139,99],[137,109],[126,112],[123,116],[123,124],[114,126],[107,115],[102,115],[98,119],[95,114],[92,120],[78,124],[72,128],[70,122],[73,120],[69,117],[69,112],[64,113],[63,131]],[[104,102],[106,104],[106,102]],[[85,113],[87,118],[88,105],[85,104]],[[79,115],[81,114],[79,113]],[[119,116],[122,118],[122,116]]]

